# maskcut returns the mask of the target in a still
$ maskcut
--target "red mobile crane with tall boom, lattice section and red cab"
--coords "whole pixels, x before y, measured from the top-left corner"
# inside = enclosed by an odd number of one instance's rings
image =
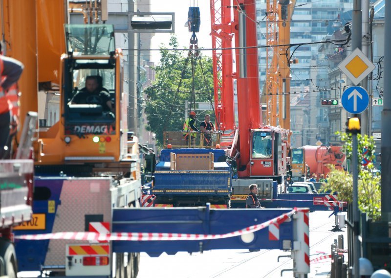
[[[233,196],[247,195],[248,185],[264,180],[282,184],[286,175],[289,130],[262,124],[258,77],[257,18],[254,0],[211,0],[215,105],[220,126],[235,128],[233,122],[236,79],[239,126],[228,143],[228,160],[236,166]],[[235,46],[236,68],[230,47]],[[223,129],[224,131],[224,129]],[[240,197],[238,197],[240,199]],[[233,198],[235,200],[235,198]]]

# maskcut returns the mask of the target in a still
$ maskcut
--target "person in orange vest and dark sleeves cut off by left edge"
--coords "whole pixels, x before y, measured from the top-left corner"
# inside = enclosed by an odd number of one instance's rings
[[[4,147],[7,145],[13,109],[12,100],[7,94],[11,86],[21,77],[23,67],[18,60],[3,56],[0,44],[0,159],[3,158]]]

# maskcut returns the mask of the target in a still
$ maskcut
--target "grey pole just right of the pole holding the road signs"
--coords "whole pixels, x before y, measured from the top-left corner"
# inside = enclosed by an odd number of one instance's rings
[[[361,51],[368,57],[369,55],[369,0],[362,0],[362,42],[361,42]],[[354,49],[353,49],[354,50]],[[363,87],[367,92],[368,90],[368,77],[364,78],[361,81],[361,87]],[[372,105],[372,96],[369,94],[369,107]],[[370,108],[369,108],[370,109]],[[370,136],[369,131],[369,121],[372,121],[371,116],[369,115],[369,109],[365,110],[361,114],[361,134],[367,134]]]

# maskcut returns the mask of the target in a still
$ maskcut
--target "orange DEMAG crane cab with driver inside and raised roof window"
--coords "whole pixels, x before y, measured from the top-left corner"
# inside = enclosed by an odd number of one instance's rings
[[[65,24],[60,120],[40,133],[38,164],[127,159],[127,94],[122,52],[109,24]]]

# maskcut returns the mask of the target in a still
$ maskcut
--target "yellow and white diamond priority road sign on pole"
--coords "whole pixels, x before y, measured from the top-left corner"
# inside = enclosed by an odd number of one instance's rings
[[[357,85],[375,69],[375,65],[359,48],[356,48],[338,65],[338,68],[348,76],[354,85]]]

